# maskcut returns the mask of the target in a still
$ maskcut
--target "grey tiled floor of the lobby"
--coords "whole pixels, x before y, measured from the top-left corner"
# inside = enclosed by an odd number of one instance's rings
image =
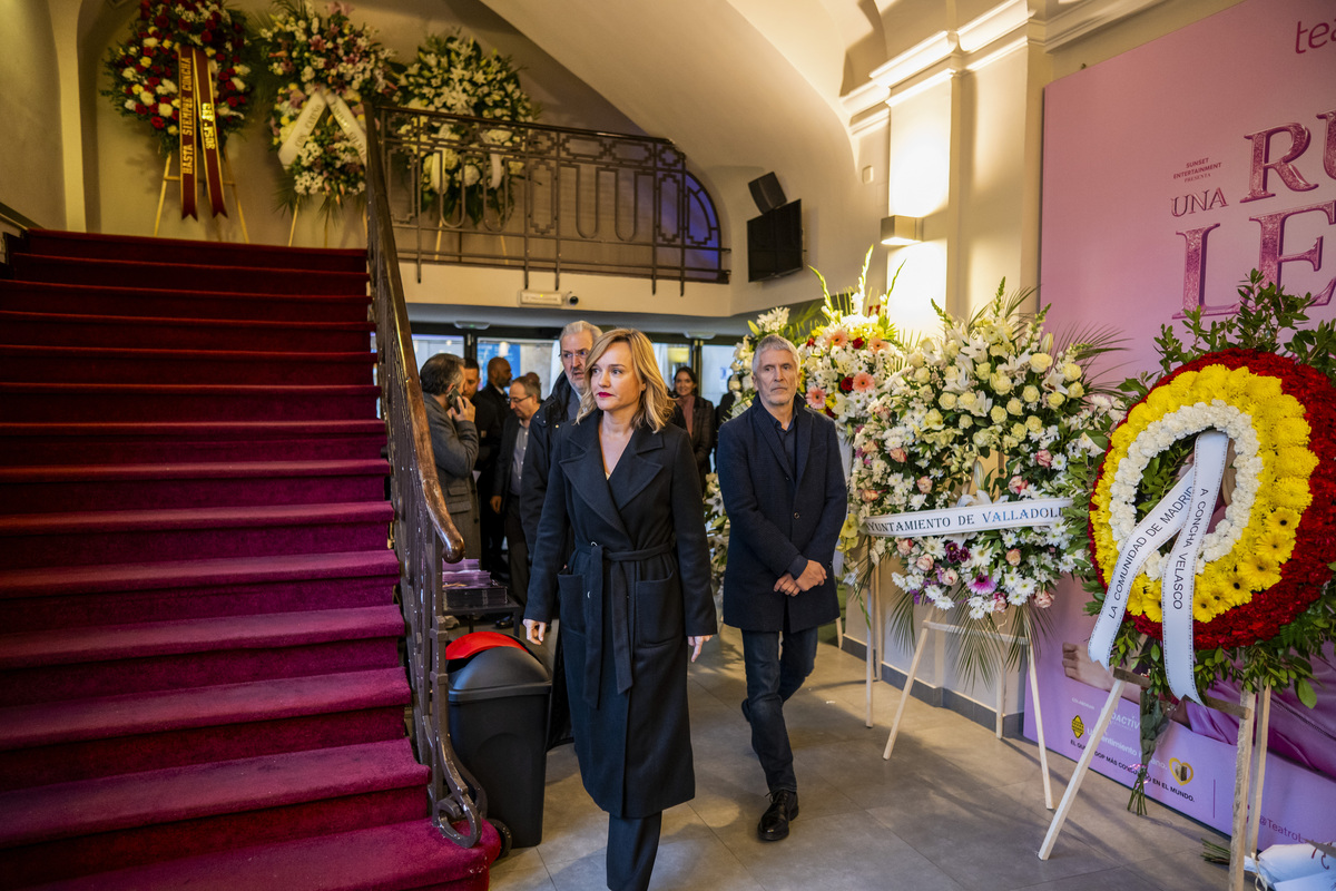
[[[882,748],[899,691],[878,684],[863,725],[863,663],[834,633],[816,672],[786,707],[802,816],[784,842],[756,839],[766,783],[737,709],[741,641],[724,629],[691,669],[696,797],[664,814],[652,888],[914,891],[1194,891],[1225,887],[1201,838],[1218,834],[1150,803],[1126,811],[1121,785],[1093,771],[1053,856],[1035,856],[1051,812],[1038,749],[998,741],[946,709],[910,700],[890,761]],[[1054,796],[1074,768],[1054,755]],[[580,784],[572,747],[548,755],[542,843],[492,867],[497,891],[599,891],[608,818]]]

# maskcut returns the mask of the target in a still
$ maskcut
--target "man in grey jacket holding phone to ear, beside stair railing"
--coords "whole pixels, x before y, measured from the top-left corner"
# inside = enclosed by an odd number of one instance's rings
[[[464,536],[464,556],[476,560],[478,537],[477,489],[473,462],[478,456],[478,429],[473,403],[462,395],[464,359],[437,353],[422,365],[422,402],[432,431],[432,454],[450,521]]]

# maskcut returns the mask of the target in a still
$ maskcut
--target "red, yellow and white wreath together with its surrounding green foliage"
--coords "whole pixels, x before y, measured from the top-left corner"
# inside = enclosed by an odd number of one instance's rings
[[[1240,297],[1225,321],[1206,326],[1189,314],[1189,345],[1165,326],[1156,339],[1162,374],[1122,385],[1134,402],[1090,488],[1088,609],[1102,610],[1120,550],[1176,485],[1196,434],[1222,430],[1233,488],[1226,482],[1224,513],[1192,566],[1196,684],[1293,687],[1312,705],[1309,657],[1336,636],[1336,327],[1300,330],[1311,297],[1264,285],[1256,271]],[[1141,566],[1113,645],[1114,664],[1149,667],[1161,697],[1165,564],[1156,552]]]

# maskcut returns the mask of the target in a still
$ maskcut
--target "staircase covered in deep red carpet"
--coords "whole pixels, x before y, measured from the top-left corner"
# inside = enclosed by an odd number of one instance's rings
[[[0,281],[0,887],[485,888],[405,736],[359,251]]]

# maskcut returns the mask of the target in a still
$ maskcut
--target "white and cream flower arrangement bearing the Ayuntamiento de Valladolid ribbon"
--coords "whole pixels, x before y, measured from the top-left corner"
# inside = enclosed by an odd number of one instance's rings
[[[1114,411],[1083,367],[1106,347],[1055,349],[1045,310],[1019,314],[1029,295],[1009,299],[999,287],[967,321],[938,310],[942,335],[908,353],[854,437],[850,485],[860,521],[971,504],[1022,516],[1031,501],[1071,497],[1078,469],[1104,453],[1088,430]],[[892,616],[902,631],[918,602],[991,628],[1010,608],[1049,606],[1058,577],[1082,568],[1083,514],[1078,506],[1049,525],[876,537],[870,557],[902,562],[892,576],[906,594]]]

